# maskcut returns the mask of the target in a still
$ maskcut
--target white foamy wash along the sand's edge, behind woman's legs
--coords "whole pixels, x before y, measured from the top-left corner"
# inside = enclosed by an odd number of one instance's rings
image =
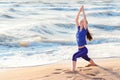
[[[93,45],[87,45],[86,47],[89,49],[88,55],[92,59],[120,58],[118,51],[119,44],[117,43],[93,44]],[[37,50],[38,49],[34,51]],[[14,54],[14,56],[6,55],[5,57],[4,54],[1,54],[3,56],[1,56],[1,60],[0,60],[1,63],[0,69],[29,67],[33,65],[41,66],[41,65],[57,63],[62,60],[71,60],[72,55],[77,51],[77,46],[58,46],[57,48],[53,46],[52,49],[46,50],[45,53],[43,54],[41,54],[41,51],[39,50],[36,53],[34,51],[31,52],[30,50],[26,52],[25,50],[23,51],[23,54],[20,54],[21,51],[19,52],[19,50],[18,51],[16,50],[15,52],[10,53],[10,55]],[[5,54],[8,53],[6,52]]]

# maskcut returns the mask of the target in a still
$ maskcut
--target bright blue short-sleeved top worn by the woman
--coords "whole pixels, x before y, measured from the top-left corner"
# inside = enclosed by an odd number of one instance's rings
[[[86,34],[87,34],[87,29],[82,29],[80,31],[80,26],[78,26],[78,31],[76,34],[76,39],[77,39],[77,44],[78,46],[84,46],[86,45]]]

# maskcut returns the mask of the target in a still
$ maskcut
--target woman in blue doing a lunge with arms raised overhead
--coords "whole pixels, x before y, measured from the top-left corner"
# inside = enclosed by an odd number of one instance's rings
[[[83,13],[83,19],[79,22],[79,16],[80,16],[81,12]],[[90,64],[88,64],[87,66],[96,66],[94,61],[88,57],[88,55],[87,55],[88,49],[85,47],[86,37],[88,40],[92,40],[92,36],[88,31],[87,25],[88,25],[88,22],[87,22],[86,15],[84,12],[84,6],[82,6],[76,16],[76,26],[78,28],[78,31],[76,34],[77,44],[78,44],[78,52],[76,52],[72,57],[73,71],[75,71],[76,61],[77,61],[77,58],[79,58],[79,57],[82,57],[86,61],[90,62]]]

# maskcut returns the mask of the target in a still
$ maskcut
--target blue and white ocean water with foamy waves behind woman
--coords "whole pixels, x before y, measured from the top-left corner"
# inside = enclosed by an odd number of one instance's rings
[[[71,59],[77,50],[74,18],[81,5],[94,37],[88,42],[89,55],[120,57],[119,4],[119,0],[1,0],[0,68]]]

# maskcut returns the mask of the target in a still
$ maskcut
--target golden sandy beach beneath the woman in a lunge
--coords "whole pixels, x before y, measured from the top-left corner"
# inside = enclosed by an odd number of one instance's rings
[[[84,67],[78,60],[77,71],[71,72],[71,61],[0,70],[0,80],[120,80],[120,58],[95,59],[98,66]]]

